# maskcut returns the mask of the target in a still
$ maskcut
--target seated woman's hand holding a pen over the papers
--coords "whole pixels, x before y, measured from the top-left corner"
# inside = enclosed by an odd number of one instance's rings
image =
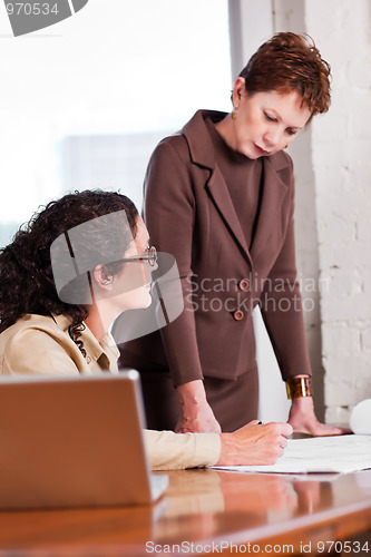
[[[292,433],[289,423],[260,424],[251,421],[233,433],[222,433],[222,451],[217,465],[274,465],[282,457]]]

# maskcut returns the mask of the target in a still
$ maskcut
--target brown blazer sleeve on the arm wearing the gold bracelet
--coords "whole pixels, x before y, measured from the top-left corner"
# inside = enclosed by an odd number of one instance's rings
[[[283,380],[311,375],[305,338],[302,296],[296,280],[294,231],[294,178],[286,234],[261,296],[262,316],[275,352]]]

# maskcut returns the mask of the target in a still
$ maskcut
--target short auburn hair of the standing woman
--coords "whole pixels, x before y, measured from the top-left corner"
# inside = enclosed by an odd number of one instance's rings
[[[311,118],[329,110],[331,68],[310,36],[274,35],[251,57],[240,77],[245,79],[247,95],[297,91]]]

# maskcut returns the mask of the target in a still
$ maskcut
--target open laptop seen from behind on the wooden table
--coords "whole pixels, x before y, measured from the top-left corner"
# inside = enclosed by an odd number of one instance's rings
[[[150,473],[139,374],[0,378],[0,508],[145,505]]]

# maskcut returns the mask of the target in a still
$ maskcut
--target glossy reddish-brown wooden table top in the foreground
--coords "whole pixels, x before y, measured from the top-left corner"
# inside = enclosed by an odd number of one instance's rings
[[[167,494],[154,506],[0,512],[0,556],[329,555],[342,549],[371,557],[371,470],[301,478],[197,469],[169,472],[169,479]],[[361,539],[363,553],[358,551]]]

